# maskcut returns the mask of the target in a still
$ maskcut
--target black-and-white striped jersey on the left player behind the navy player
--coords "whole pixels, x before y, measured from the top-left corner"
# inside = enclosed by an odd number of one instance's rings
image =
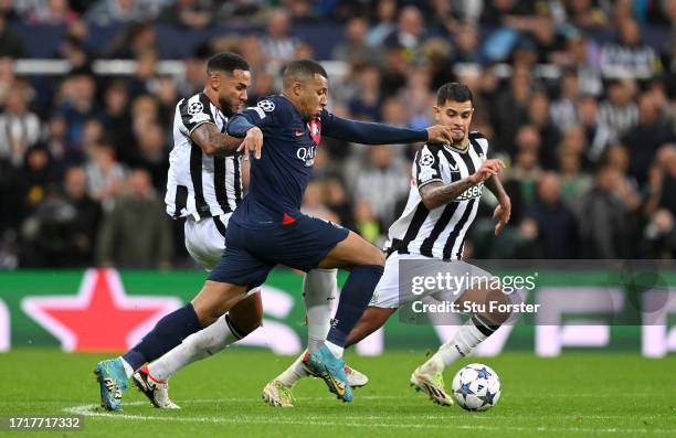
[[[225,132],[228,118],[203,93],[181,99],[173,117],[173,149],[169,157],[167,213],[173,218],[219,216],[242,201],[241,156],[208,156],[190,139],[202,124]]]

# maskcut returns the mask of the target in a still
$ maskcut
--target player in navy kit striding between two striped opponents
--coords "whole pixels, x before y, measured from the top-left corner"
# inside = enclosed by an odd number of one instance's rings
[[[300,213],[321,136],[366,145],[413,141],[447,142],[447,127],[405,129],[344,119],[325,109],[328,75],[320,64],[292,62],[283,74],[284,90],[230,120],[228,132],[245,137],[243,145],[264,153],[251,167],[251,189],[233,214],[228,249],[212,271],[212,285],[196,298],[196,311],[209,314],[222,303],[265,281],[277,264],[304,271],[344,268],[350,275],[342,288],[336,318],[325,344],[305,360],[307,370],[324,378],[344,402],[352,398],[344,372],[342,348],[383,271],[382,252],[359,235]],[[251,145],[249,145],[251,142]],[[218,297],[219,303],[213,299]]]

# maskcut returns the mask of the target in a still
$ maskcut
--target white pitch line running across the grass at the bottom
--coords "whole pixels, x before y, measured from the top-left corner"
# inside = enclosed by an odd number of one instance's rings
[[[313,397],[306,397],[308,399],[313,399]],[[366,397],[361,397],[361,398],[366,398]],[[383,397],[379,397],[379,398],[383,398]],[[314,398],[314,399],[319,399],[319,398]],[[325,398],[321,398],[325,399]],[[214,403],[214,402],[223,402],[223,400],[228,400],[228,402],[236,402],[236,400],[244,400],[244,398],[223,398],[223,399],[194,399],[194,400],[190,400],[192,403]],[[250,398],[245,398],[245,400],[250,400]],[[129,402],[126,405],[127,406],[141,406],[141,405],[147,405],[148,402]],[[409,429],[409,428],[413,428],[413,429],[458,429],[458,430],[476,430],[476,429],[483,429],[483,430],[495,430],[495,431],[501,431],[501,430],[513,430],[513,431],[531,431],[531,430],[537,430],[537,431],[541,431],[541,432],[580,432],[580,434],[592,434],[592,432],[601,432],[601,434],[615,434],[615,432],[623,432],[623,434],[674,434],[676,432],[676,429],[621,429],[621,428],[605,428],[605,429],[592,429],[592,428],[579,428],[579,427],[545,427],[545,426],[538,426],[538,427],[521,427],[521,426],[485,426],[485,425],[434,425],[434,424],[390,424],[390,423],[350,423],[350,424],[344,424],[344,423],[335,423],[335,421],[324,421],[324,420],[314,420],[311,418],[318,418],[320,419],[321,417],[305,417],[304,420],[294,420],[294,419],[285,419],[285,418],[271,418],[271,419],[264,419],[264,418],[250,418],[251,416],[239,416],[239,417],[234,417],[234,418],[224,418],[224,417],[162,417],[162,416],[150,416],[150,415],[129,415],[129,414],[114,414],[114,413],[96,413],[93,412],[92,409],[96,409],[97,407],[99,407],[98,404],[87,404],[87,405],[80,405],[80,406],[72,406],[72,407],[66,407],[63,410],[67,414],[75,414],[75,415],[82,415],[85,417],[99,417],[99,418],[113,418],[113,419],[134,419],[134,420],[141,420],[141,421],[148,421],[148,420],[154,420],[154,421],[177,421],[177,423],[222,423],[222,424],[241,424],[241,425],[245,425],[245,424],[250,424],[250,425],[265,425],[265,424],[283,424],[283,425],[293,425],[293,426],[304,426],[304,425],[313,425],[313,426],[342,426],[342,427],[366,427],[366,428],[400,428],[400,429]],[[433,416],[435,419],[439,419],[439,417]],[[371,417],[361,417],[362,419],[366,418],[373,418],[373,419],[383,419],[383,418],[391,418],[391,417],[379,417],[379,416],[371,416]],[[421,417],[419,417],[420,419]],[[478,417],[477,417],[478,418]],[[486,419],[488,418],[496,418],[496,417],[484,417]]]

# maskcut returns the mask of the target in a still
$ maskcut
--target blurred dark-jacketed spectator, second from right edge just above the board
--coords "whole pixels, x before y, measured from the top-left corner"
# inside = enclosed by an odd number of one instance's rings
[[[617,195],[620,173],[602,165],[594,178],[594,186],[580,204],[580,243],[582,258],[630,257],[631,231],[629,210]]]

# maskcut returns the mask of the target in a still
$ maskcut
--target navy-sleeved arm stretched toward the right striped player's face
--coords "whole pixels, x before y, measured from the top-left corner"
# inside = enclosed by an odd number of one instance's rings
[[[326,124],[325,120],[327,121]],[[452,141],[451,129],[441,125],[427,129],[409,129],[384,124],[344,119],[332,114],[328,115],[328,119],[323,117],[321,122],[321,133],[324,136],[362,145],[391,145],[418,141],[447,143]]]

